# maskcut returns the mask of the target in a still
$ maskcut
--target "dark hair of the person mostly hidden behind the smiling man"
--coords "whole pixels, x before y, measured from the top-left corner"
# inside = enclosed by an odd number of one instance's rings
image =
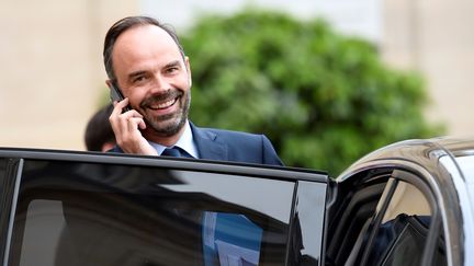
[[[109,116],[112,111],[113,105],[109,104],[95,112],[89,119],[84,135],[84,142],[88,151],[102,151],[102,146],[104,143],[115,143],[115,135],[109,122]]]

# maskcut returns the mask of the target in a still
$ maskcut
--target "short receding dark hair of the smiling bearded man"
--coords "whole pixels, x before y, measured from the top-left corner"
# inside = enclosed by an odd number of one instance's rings
[[[109,79],[111,79],[112,81],[114,81],[116,78],[113,70],[113,63],[112,63],[112,51],[116,39],[126,30],[135,26],[143,26],[143,25],[155,25],[162,28],[165,32],[167,32],[177,44],[181,53],[181,56],[184,60],[185,57],[184,50],[179,42],[178,35],[176,34],[174,30],[171,26],[167,24],[162,24],[158,20],[150,16],[144,16],[144,15],[127,16],[115,22],[111,26],[111,28],[109,28],[109,32],[105,34],[103,60],[104,60],[106,74],[109,76]]]

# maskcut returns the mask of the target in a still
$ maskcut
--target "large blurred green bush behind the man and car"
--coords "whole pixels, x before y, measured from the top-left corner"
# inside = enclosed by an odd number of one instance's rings
[[[336,176],[384,144],[431,137],[422,79],[385,66],[370,43],[261,10],[201,18],[181,36],[191,119],[266,134],[286,165]]]

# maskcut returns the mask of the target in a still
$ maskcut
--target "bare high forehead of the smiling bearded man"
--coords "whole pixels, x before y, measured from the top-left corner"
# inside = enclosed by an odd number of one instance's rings
[[[112,51],[115,70],[136,61],[177,60],[180,57],[180,50],[172,37],[156,25],[139,25],[126,30],[116,39]]]

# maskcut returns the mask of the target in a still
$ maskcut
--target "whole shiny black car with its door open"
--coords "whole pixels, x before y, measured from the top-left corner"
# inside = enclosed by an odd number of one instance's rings
[[[336,160],[336,159],[335,159]],[[3,265],[474,265],[474,142],[313,170],[0,149]]]

